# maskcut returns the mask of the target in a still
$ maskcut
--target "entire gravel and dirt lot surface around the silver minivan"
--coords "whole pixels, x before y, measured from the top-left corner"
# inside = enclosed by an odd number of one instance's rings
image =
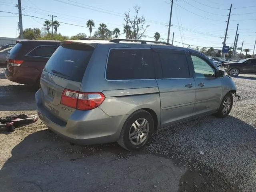
[[[0,116],[35,114],[33,88],[0,68]],[[116,143],[71,146],[38,120],[0,132],[1,192],[256,191],[256,75],[233,78],[230,116],[207,116],[158,132],[144,150]]]

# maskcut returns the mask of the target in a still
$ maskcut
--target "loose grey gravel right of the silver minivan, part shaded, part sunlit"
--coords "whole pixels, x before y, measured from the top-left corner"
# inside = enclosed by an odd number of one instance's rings
[[[234,98],[230,116],[207,116],[156,134],[160,144],[146,150],[173,156],[220,180],[234,191],[256,191],[256,75],[232,78],[240,100]],[[223,184],[223,183],[222,183]]]

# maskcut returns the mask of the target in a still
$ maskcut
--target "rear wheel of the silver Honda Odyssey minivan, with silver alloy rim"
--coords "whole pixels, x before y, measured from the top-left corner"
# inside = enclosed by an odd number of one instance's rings
[[[154,131],[154,120],[149,112],[138,110],[131,114],[122,128],[118,144],[129,151],[142,148]]]

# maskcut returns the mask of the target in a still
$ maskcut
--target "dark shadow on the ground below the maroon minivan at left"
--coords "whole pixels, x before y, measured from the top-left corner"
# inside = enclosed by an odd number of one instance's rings
[[[0,111],[36,110],[38,88],[26,85],[0,86]]]

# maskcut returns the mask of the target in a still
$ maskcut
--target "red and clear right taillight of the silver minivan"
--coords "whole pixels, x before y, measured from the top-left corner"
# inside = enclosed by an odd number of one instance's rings
[[[61,104],[79,110],[91,110],[100,106],[104,99],[105,96],[101,92],[78,92],[64,89]]]

